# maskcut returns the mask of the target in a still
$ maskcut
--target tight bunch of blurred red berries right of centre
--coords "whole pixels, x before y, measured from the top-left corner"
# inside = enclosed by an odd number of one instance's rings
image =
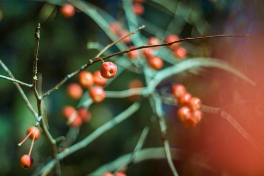
[[[197,97],[192,97],[182,84],[172,85],[172,94],[179,104],[178,118],[188,128],[195,127],[202,120],[200,110],[202,101]]]

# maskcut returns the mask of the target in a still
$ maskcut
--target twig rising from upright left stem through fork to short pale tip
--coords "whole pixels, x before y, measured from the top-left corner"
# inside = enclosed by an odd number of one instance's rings
[[[108,48],[110,48],[111,46],[113,46],[114,44],[117,44],[118,42],[120,42],[121,40],[123,40],[124,38],[131,36],[133,34],[135,34],[137,31],[139,31],[140,29],[143,29],[144,26],[141,26],[139,28],[137,28],[135,31],[130,32],[129,34],[127,34],[126,36],[114,41],[113,43],[111,43],[110,45],[106,46],[96,57],[94,57],[93,59],[90,59],[87,63],[85,63],[84,65],[82,65],[79,69],[73,71],[72,73],[68,74],[66,77],[64,77],[59,83],[57,83],[52,89],[50,89],[49,91],[47,91],[45,94],[43,94],[42,99],[44,97],[46,97],[47,95],[49,95],[50,93],[52,93],[53,91],[59,89],[59,87],[66,82],[67,80],[69,80],[71,77],[75,76],[76,74],[78,74],[79,72],[81,72],[82,70],[85,70],[87,67],[89,67],[90,65],[98,62],[99,60],[103,60],[102,58],[100,58],[99,56],[101,56],[101,54],[103,54]]]

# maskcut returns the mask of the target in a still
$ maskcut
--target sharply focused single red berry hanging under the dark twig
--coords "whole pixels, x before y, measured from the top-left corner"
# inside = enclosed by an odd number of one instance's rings
[[[100,73],[104,78],[112,78],[116,75],[117,65],[113,62],[104,62],[101,66]]]

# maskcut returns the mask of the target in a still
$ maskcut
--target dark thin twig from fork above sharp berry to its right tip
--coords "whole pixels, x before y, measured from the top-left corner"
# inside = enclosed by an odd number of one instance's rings
[[[163,44],[158,44],[158,45],[143,45],[143,46],[127,49],[127,50],[124,50],[124,51],[120,51],[120,52],[111,54],[111,55],[106,56],[106,57],[102,57],[102,59],[108,59],[110,57],[114,57],[114,56],[117,56],[117,55],[120,55],[120,54],[128,53],[130,51],[138,50],[138,49],[158,47],[158,46],[170,46],[170,45],[172,45],[174,43],[179,43],[179,42],[183,42],[183,41],[199,40],[199,39],[210,39],[210,38],[220,38],[220,37],[248,37],[248,36],[249,35],[247,35],[247,34],[243,34],[243,35],[225,35],[225,34],[223,34],[223,35],[213,35],[213,36],[194,37],[194,38],[188,37],[188,38],[177,40],[177,41],[170,42],[170,43],[163,43]]]

